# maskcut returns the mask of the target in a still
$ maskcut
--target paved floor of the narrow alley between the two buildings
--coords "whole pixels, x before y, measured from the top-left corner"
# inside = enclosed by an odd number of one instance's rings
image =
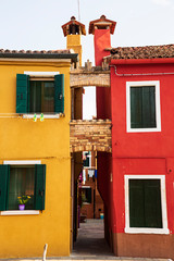
[[[115,258],[104,240],[103,220],[87,220],[86,223],[80,223],[72,257],[92,259],[96,256],[101,257],[101,259],[105,256],[107,259]]]

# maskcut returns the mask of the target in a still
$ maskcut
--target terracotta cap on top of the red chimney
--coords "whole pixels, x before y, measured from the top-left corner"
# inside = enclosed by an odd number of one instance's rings
[[[113,35],[116,22],[105,18],[105,15],[101,15],[99,20],[94,20],[89,23],[89,34],[95,34],[95,27],[102,29],[105,27],[110,28],[110,33]]]

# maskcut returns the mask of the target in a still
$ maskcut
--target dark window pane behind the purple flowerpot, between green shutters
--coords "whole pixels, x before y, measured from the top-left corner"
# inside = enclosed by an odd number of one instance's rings
[[[34,209],[35,166],[11,166],[8,210],[17,210],[17,197],[30,196],[25,209]]]

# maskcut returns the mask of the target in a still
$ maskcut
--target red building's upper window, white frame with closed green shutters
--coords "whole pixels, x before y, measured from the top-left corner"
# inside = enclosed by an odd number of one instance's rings
[[[160,132],[159,82],[127,82],[127,132]]]

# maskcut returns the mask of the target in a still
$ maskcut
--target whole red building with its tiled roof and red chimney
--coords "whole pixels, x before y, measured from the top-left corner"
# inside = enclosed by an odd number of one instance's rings
[[[114,27],[89,24],[111,70],[97,88],[97,115],[112,119],[112,156],[98,153],[105,237],[116,256],[174,258],[174,45],[111,48]]]

